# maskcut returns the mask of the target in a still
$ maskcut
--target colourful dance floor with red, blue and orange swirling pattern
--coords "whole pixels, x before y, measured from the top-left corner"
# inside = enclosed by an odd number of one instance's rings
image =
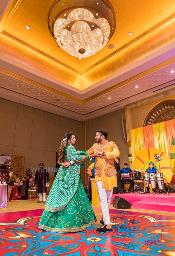
[[[38,229],[42,211],[0,214],[1,256],[175,256],[172,216],[110,210],[116,223],[111,232],[96,233],[97,222],[82,232],[59,234]]]

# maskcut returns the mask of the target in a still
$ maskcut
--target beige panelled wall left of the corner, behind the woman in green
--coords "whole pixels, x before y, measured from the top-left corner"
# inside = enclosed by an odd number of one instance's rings
[[[0,98],[0,153],[25,156],[26,168],[55,168],[63,135],[74,132],[81,146],[81,122]],[[54,173],[50,173],[51,179]]]

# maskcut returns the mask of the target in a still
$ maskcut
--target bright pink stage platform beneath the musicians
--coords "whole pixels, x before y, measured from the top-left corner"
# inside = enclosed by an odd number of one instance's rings
[[[170,196],[169,196],[170,195]],[[163,194],[141,194],[141,193],[124,193],[113,194],[111,203],[115,196],[124,198],[134,209],[158,210],[163,212],[175,212],[175,193]]]

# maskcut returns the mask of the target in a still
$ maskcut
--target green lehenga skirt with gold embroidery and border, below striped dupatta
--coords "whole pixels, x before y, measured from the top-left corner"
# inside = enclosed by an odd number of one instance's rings
[[[63,210],[44,210],[39,228],[58,233],[78,232],[96,222],[93,209],[79,178],[77,190],[72,200]]]

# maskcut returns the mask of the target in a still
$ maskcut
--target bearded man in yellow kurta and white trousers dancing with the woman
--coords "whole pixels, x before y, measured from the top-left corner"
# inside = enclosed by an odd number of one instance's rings
[[[87,151],[88,154],[98,153],[95,165],[95,182],[97,186],[100,207],[102,212],[102,228],[98,232],[111,231],[109,207],[113,188],[117,186],[117,172],[114,166],[114,157],[119,157],[119,149],[114,141],[107,140],[108,133],[105,129],[96,130],[96,142]]]

